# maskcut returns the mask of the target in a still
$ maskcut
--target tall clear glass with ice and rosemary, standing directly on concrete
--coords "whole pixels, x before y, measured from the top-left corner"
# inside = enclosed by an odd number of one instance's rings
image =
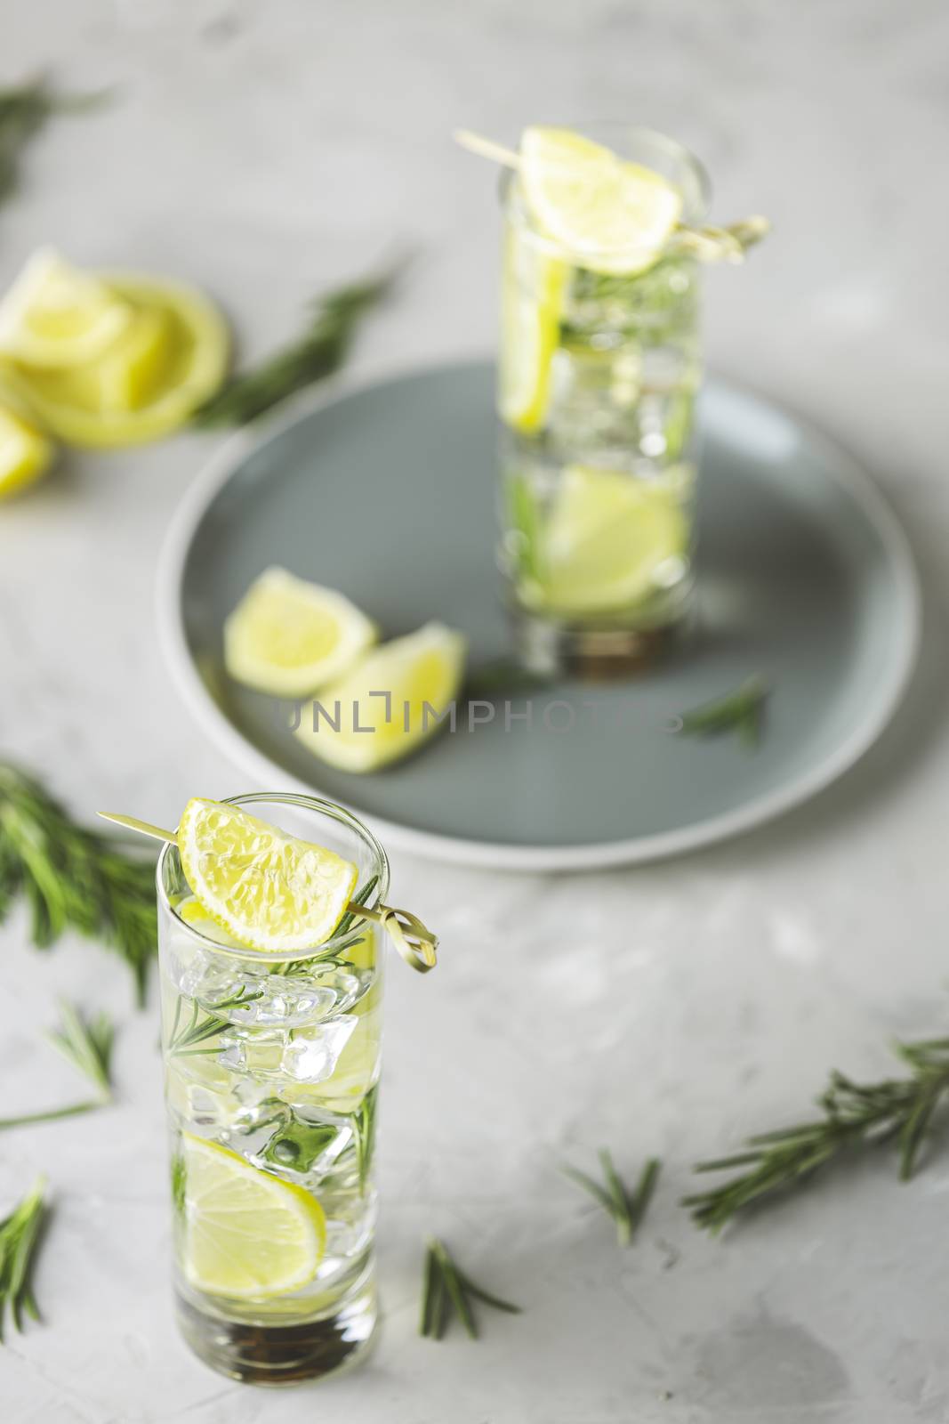
[[[354,899],[384,900],[386,853],[340,806],[280,793],[232,802],[356,863]],[[182,1333],[238,1380],[327,1374],[360,1356],[376,1324],[384,931],[350,914],[312,951],[236,947],[203,917],[175,846],[158,863],[158,923]],[[267,1196],[280,1220],[300,1223],[303,1246],[293,1230],[273,1236]],[[222,1220],[233,1255],[209,1266],[208,1227],[219,1240]],[[260,1253],[266,1290],[255,1284]]]

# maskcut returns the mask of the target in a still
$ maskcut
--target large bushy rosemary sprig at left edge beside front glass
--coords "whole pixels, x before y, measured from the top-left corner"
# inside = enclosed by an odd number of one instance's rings
[[[155,864],[78,826],[44,787],[0,762],[0,923],[24,896],[37,948],[77,930],[125,960],[145,998],[157,946]]]

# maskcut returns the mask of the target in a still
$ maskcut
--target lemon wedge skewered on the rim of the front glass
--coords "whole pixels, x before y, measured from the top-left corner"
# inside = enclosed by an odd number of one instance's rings
[[[199,796],[185,806],[178,850],[206,914],[253,950],[329,940],[356,887],[356,866],[334,852]]]

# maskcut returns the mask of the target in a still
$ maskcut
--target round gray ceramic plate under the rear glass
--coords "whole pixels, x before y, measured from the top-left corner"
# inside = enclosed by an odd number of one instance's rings
[[[505,728],[502,703],[472,731],[461,718],[371,776],[314,760],[279,703],[226,676],[223,618],[270,564],[343,590],[388,635],[440,618],[468,634],[474,664],[504,654],[492,372],[477,363],[337,387],[222,449],[162,558],[162,642],[185,699],[248,779],[316,790],[386,843],[441,859],[619,864],[787,810],[851,766],[896,706],[916,581],[894,517],[839,450],[717,382],[701,414],[701,625],[679,662],[535,693],[532,726]],[[774,686],[757,750],[666,729],[750,672]]]

